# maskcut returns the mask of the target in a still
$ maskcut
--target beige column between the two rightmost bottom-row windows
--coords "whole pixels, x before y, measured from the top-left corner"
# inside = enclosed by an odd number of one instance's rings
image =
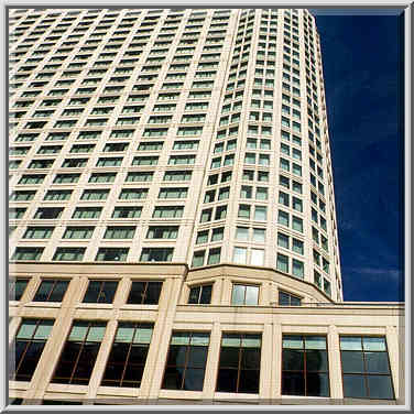
[[[330,325],[327,336],[328,346],[328,367],[329,367],[329,383],[330,383],[330,397],[344,399],[342,390],[342,375],[340,366],[340,348],[339,335],[337,327]]]

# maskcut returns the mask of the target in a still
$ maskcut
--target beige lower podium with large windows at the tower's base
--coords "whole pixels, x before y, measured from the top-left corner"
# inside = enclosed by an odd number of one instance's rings
[[[11,404],[403,404],[404,307],[268,268],[10,266]]]

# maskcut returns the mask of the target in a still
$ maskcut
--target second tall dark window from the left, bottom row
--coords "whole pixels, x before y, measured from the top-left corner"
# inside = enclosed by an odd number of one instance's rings
[[[105,322],[74,322],[51,382],[89,383],[106,326]]]

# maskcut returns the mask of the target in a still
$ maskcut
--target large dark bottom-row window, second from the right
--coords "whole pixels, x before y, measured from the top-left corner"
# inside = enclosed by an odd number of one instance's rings
[[[282,395],[329,396],[326,337],[283,335]]]

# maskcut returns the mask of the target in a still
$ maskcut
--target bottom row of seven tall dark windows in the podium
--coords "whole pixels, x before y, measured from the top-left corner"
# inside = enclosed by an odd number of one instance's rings
[[[12,344],[15,364],[10,378],[30,381],[52,334],[53,319],[23,319]],[[106,333],[106,322],[74,320],[54,369],[52,383],[87,385]],[[101,385],[141,386],[154,326],[120,322],[101,377]],[[384,337],[340,336],[345,397],[394,399]],[[173,330],[162,389],[203,391],[208,331]],[[221,334],[216,391],[260,391],[262,335]],[[329,396],[328,347],[325,336],[283,334],[282,394]]]

